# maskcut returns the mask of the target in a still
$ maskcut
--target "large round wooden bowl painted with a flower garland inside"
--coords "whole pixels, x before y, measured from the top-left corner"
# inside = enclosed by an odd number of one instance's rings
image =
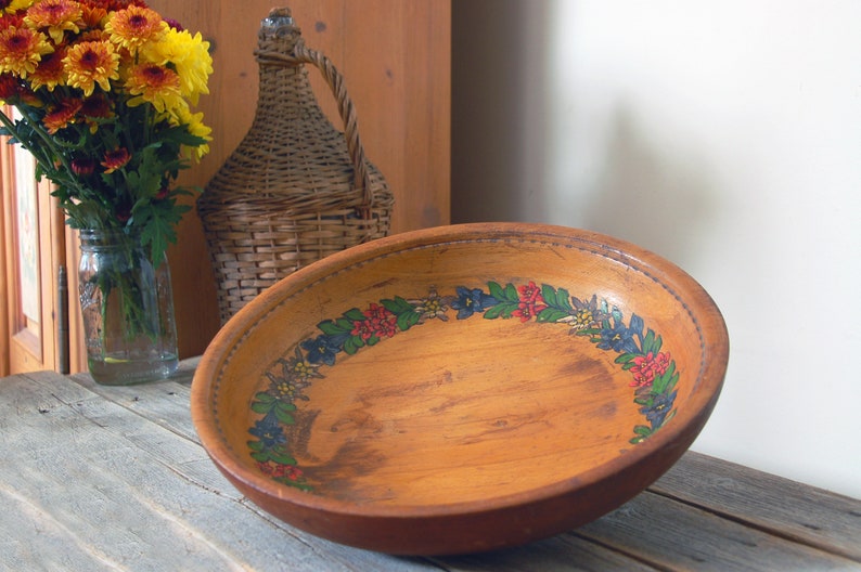
[[[684,272],[534,224],[404,233],[309,265],[204,354],[192,416],[254,503],[400,555],[484,551],[618,507],[706,422],[729,341]]]

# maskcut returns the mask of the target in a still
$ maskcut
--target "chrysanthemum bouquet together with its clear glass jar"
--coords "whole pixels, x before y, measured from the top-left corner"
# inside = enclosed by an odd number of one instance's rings
[[[192,107],[211,73],[200,32],[143,0],[0,0],[0,105],[17,112],[0,107],[0,134],[54,183],[82,250],[119,259],[81,264],[94,377],[94,364],[176,361],[172,301],[154,297],[170,287],[162,262],[191,208],[178,202],[190,191],[174,182],[209,151],[210,129]],[[168,277],[154,284],[158,272]]]

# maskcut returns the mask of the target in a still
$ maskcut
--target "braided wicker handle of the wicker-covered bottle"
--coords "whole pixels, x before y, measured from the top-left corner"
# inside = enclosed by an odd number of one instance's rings
[[[268,60],[270,62],[288,65],[313,64],[320,69],[329,88],[332,90],[332,94],[335,96],[338,114],[340,115],[342,121],[344,121],[344,136],[347,140],[347,153],[350,156],[354,168],[352,185],[357,190],[362,190],[362,204],[357,210],[362,219],[370,219],[374,190],[371,185],[371,178],[365,164],[364,148],[359,139],[359,129],[356,121],[356,106],[352,104],[349,94],[347,94],[344,76],[335,68],[329,57],[316,50],[307,48],[301,38],[296,42],[292,54],[258,52],[257,58],[258,61]]]

